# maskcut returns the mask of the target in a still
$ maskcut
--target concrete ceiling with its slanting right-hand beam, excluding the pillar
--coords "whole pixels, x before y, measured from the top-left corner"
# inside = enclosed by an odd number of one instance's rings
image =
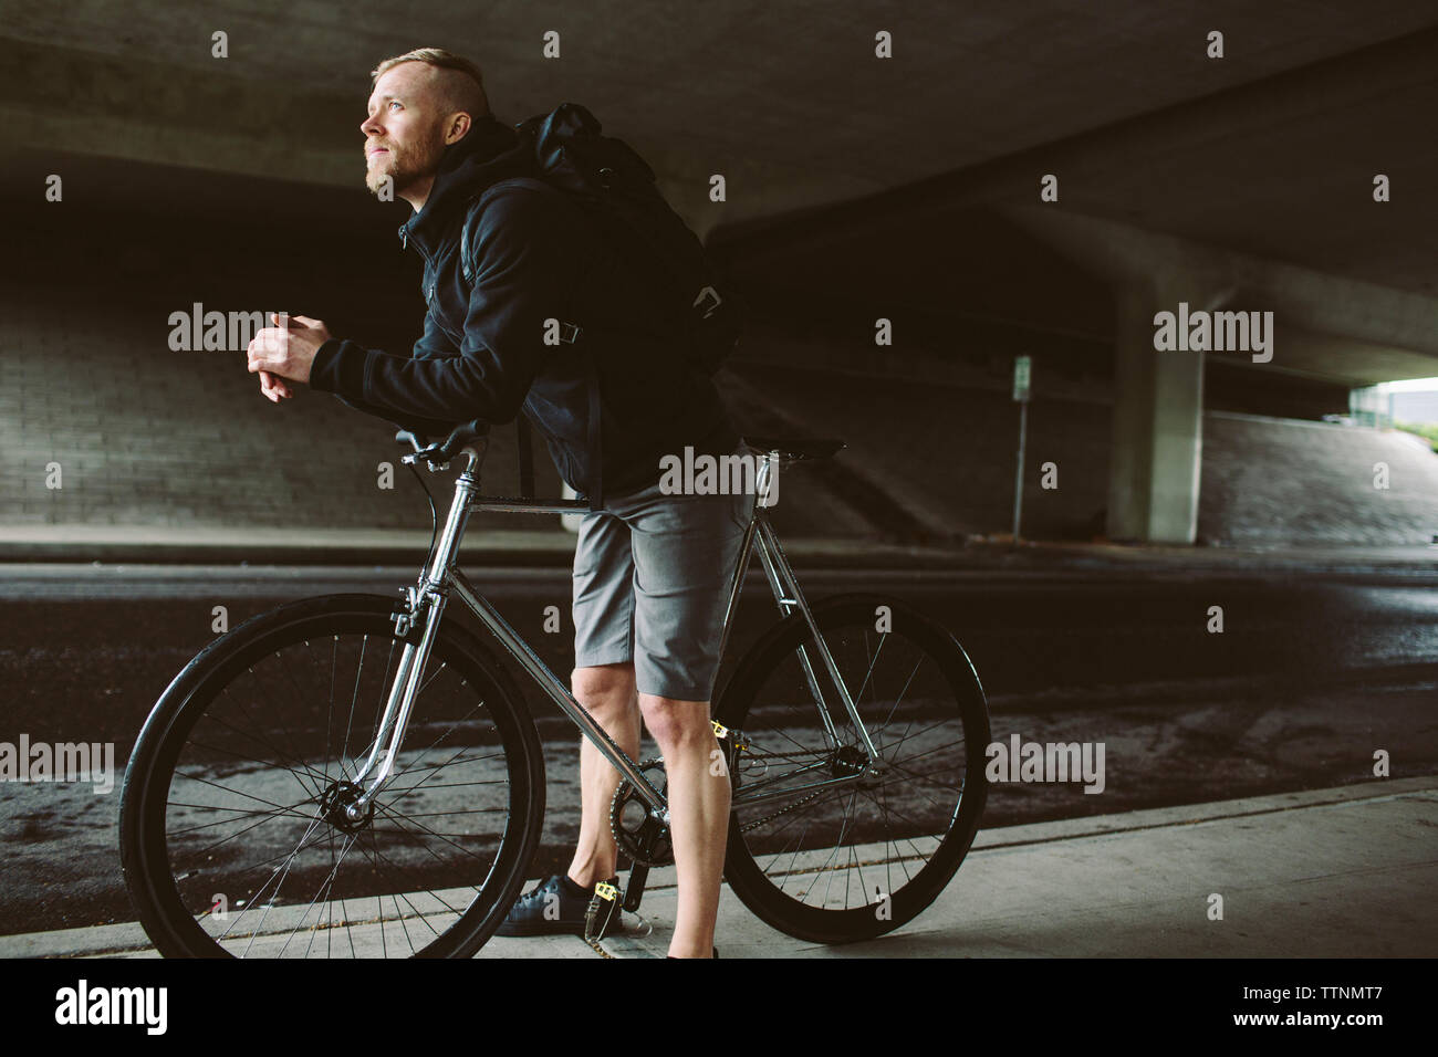
[[[440,45],[480,63],[503,119],[590,106],[775,288],[976,229],[998,244],[1009,224],[979,211],[1031,204],[1057,173],[1066,211],[1435,296],[1435,26],[1431,0],[0,0],[0,194],[14,216],[65,171],[101,209],[213,216],[259,194],[272,216],[393,230],[403,206],[361,211],[368,70]],[[879,30],[893,59],[874,58]],[[910,302],[952,296],[926,267],[942,259],[905,270]]]

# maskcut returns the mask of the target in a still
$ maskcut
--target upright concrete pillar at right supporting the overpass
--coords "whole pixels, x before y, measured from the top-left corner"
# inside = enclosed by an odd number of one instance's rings
[[[1113,443],[1106,535],[1192,544],[1202,467],[1204,354],[1153,348],[1153,315],[1202,303],[1172,278],[1123,285],[1117,296]],[[1195,305],[1198,306],[1198,305]]]

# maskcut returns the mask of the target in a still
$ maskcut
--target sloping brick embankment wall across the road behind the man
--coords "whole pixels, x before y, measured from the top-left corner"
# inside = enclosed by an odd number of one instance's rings
[[[426,528],[427,506],[390,429],[326,394],[259,395],[243,354],[171,352],[155,301],[7,283],[0,312],[0,523]],[[262,305],[255,305],[262,308]],[[749,342],[751,347],[761,342]],[[792,467],[775,518],[787,535],[943,541],[1007,531],[1017,407],[1007,390],[739,360],[722,375],[751,431],[844,437],[831,465]],[[1024,534],[1087,539],[1107,502],[1110,411],[1035,391]],[[394,488],[378,488],[378,463]],[[58,462],[63,488],[47,489]],[[1058,488],[1041,488],[1041,466]],[[1373,465],[1391,488],[1373,488]],[[541,444],[542,495],[559,482]],[[453,475],[449,475],[453,476]],[[446,489],[444,480],[431,488]],[[513,430],[496,431],[486,492],[515,492]],[[479,515],[479,528],[555,519]],[[1199,532],[1214,542],[1428,542],[1438,456],[1401,434],[1208,413]]]

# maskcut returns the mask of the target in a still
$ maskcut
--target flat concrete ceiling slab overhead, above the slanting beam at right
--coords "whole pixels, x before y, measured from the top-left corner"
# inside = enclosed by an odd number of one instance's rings
[[[575,99],[669,175],[729,174],[718,219],[735,221],[966,170],[1435,19],[1414,0],[3,0],[0,106],[32,147],[354,186],[368,70],[434,43],[480,63],[502,118]],[[1204,55],[1211,29],[1222,60]],[[893,59],[874,58],[877,30]]]

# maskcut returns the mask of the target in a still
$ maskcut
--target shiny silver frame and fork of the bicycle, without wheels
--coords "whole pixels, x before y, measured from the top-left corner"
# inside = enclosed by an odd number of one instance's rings
[[[390,699],[385,703],[384,715],[380,719],[380,729],[375,733],[374,746],[371,748],[364,765],[352,778],[355,785],[362,785],[365,779],[368,779],[368,785],[357,801],[347,808],[347,813],[352,818],[360,818],[365,813],[368,804],[390,779],[394,769],[394,761],[404,742],[410,709],[420,689],[418,682],[421,673],[424,672],[424,664],[434,646],[434,637],[439,633],[440,620],[444,616],[444,608],[449,604],[449,595],[453,591],[460,603],[463,603],[463,605],[493,633],[510,656],[525,669],[525,672],[529,673],[539,687],[549,695],[559,710],[580,728],[590,743],[598,749],[600,755],[613,764],[624,779],[634,787],[636,794],[649,805],[650,813],[663,820],[667,825],[669,805],[666,804],[663,794],[660,794],[659,790],[650,784],[624,749],[621,749],[614,739],[605,733],[604,728],[595,722],[594,716],[591,716],[590,712],[578,700],[575,700],[569,687],[567,687],[559,677],[549,670],[544,660],[539,659],[539,654],[536,654],[533,649],[519,636],[519,633],[509,626],[509,621],[499,614],[489,600],[475,590],[469,578],[456,565],[460,539],[464,535],[464,525],[467,523],[472,511],[584,513],[590,509],[585,502],[577,499],[545,500],[480,496],[479,476],[476,470],[483,463],[486,446],[487,441],[480,440],[477,441],[477,446],[462,450],[462,454],[467,459],[467,462],[464,470],[454,483],[454,499],[450,503],[449,515],[444,519],[444,529],[436,544],[429,567],[420,574],[417,587],[407,588],[408,611],[395,614],[395,631],[406,637],[404,653],[400,657],[394,683],[390,689]],[[416,456],[404,456],[404,460],[413,463],[416,462]],[[729,631],[733,623],[733,613],[739,601],[739,594],[743,590],[743,578],[749,565],[749,555],[756,549],[759,552],[759,559],[764,564],[764,572],[769,582],[769,588],[774,591],[774,598],[778,603],[779,613],[788,616],[794,610],[798,610],[804,614],[804,620],[810,627],[810,634],[814,636],[814,641],[818,646],[823,667],[828,673],[833,685],[838,689],[838,696],[844,710],[848,713],[854,726],[863,736],[863,743],[869,754],[869,764],[857,774],[827,778],[808,785],[787,785],[784,788],[771,788],[768,791],[765,791],[765,782],[762,781],[752,787],[746,785],[735,795],[735,804],[749,804],[778,797],[791,797],[798,792],[807,792],[825,787],[848,785],[860,781],[866,774],[876,771],[877,768],[874,765],[879,759],[879,754],[869,741],[869,731],[858,719],[858,710],[854,708],[848,687],[844,686],[844,680],[838,673],[838,667],[834,664],[828,646],[824,643],[824,639],[818,631],[818,626],[814,623],[814,616],[810,613],[808,604],[804,601],[804,594],[800,591],[794,571],[789,568],[789,564],[784,557],[784,549],[779,546],[778,536],[774,532],[774,525],[769,522],[766,502],[777,467],[778,452],[765,453],[759,472],[755,476],[755,500],[751,508],[752,516],[748,528],[745,529],[743,542],[739,549],[739,559],[735,565],[733,578],[729,585],[719,656],[722,657],[725,649],[728,649]],[[431,463],[431,469],[443,467],[436,467]],[[418,627],[421,620],[423,628]],[[825,735],[830,745],[837,746],[837,733],[828,715],[828,705],[820,690],[818,676],[808,656],[808,647],[800,647],[800,659],[804,666],[810,689],[814,692],[815,700],[818,702],[818,712],[823,718]],[[823,764],[815,764],[810,768],[791,771],[785,777],[792,777],[807,769],[821,769],[823,767]],[[774,779],[771,779],[771,784],[772,781]]]

